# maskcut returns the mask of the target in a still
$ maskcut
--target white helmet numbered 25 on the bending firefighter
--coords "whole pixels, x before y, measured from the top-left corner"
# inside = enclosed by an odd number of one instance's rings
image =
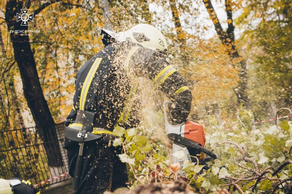
[[[108,38],[114,38],[119,42],[124,42],[127,38],[130,38],[132,42],[155,51],[164,52],[167,49],[167,43],[163,34],[157,28],[149,24],[137,24],[127,31],[118,33],[102,29],[101,34],[105,36],[104,32],[110,36]]]

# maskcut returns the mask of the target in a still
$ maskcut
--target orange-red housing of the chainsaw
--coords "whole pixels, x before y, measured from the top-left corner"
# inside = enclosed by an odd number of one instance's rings
[[[185,131],[183,133],[185,138],[198,142],[202,147],[204,147],[206,138],[202,125],[192,121],[187,121],[185,124]]]

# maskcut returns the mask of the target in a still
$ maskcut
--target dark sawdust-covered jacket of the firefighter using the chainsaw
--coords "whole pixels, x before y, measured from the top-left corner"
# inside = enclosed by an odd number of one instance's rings
[[[136,127],[141,118],[139,77],[152,80],[173,99],[169,108],[175,123],[186,120],[192,94],[185,79],[158,52],[125,41],[106,46],[80,68],[66,126],[75,121],[77,110],[86,110],[96,113],[93,127],[110,131],[117,124]]]

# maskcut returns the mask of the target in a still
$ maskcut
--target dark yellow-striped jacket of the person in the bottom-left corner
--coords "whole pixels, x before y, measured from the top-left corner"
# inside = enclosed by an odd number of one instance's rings
[[[41,192],[34,188],[32,183],[20,178],[7,179],[13,186],[13,194],[40,194]]]

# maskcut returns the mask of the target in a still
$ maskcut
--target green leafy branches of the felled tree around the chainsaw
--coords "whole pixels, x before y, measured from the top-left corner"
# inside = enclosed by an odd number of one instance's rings
[[[185,181],[201,193],[223,188],[234,193],[292,192],[292,122],[256,126],[254,130],[239,126],[234,123],[232,131],[223,131],[219,126],[206,130],[205,147],[218,158],[208,163],[211,167],[208,170],[201,170],[203,165],[185,161]],[[177,179],[179,165],[169,164],[170,145],[163,141],[166,135],[157,130],[148,129],[145,134],[142,131],[141,128],[125,130],[121,127],[114,130],[120,138],[113,144],[124,148],[119,157],[128,163],[131,188],[151,181]],[[179,157],[179,153],[175,154]]]

